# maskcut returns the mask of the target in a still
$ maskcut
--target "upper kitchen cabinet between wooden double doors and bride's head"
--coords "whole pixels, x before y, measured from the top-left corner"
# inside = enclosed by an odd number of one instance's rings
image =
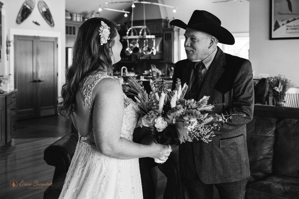
[[[75,38],[82,21],[65,20],[65,47],[71,48],[74,45]]]

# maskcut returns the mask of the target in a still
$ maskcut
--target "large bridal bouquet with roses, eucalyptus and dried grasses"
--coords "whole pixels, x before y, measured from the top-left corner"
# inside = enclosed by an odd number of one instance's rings
[[[142,115],[141,127],[148,127],[160,144],[176,145],[183,142],[203,141],[208,143],[214,137],[213,130],[225,123],[229,115],[208,114],[213,106],[208,104],[209,96],[201,100],[184,99],[188,86],[176,81],[176,89],[167,90],[167,84],[152,64],[152,92],[148,95],[142,81],[128,78],[127,92],[133,95]]]

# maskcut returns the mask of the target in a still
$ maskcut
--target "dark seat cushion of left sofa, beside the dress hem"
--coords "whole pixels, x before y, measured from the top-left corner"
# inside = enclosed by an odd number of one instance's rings
[[[62,173],[54,182],[53,186],[48,186],[48,188],[44,192],[44,199],[53,199],[59,198],[61,193],[63,183],[66,177],[66,173]]]

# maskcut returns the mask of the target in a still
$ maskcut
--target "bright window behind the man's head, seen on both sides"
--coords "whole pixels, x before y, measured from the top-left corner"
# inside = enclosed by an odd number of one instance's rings
[[[225,53],[249,59],[249,33],[233,33],[235,38],[234,45],[226,45],[218,43],[218,46]],[[180,60],[187,59],[184,49],[185,38],[180,35]]]

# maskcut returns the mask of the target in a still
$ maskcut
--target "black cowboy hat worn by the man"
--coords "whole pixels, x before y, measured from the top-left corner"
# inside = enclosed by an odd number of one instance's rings
[[[220,19],[205,10],[194,10],[188,24],[179,19],[173,19],[169,24],[185,30],[186,28],[192,28],[210,33],[222,44],[233,45],[235,43],[234,36],[221,26]]]

